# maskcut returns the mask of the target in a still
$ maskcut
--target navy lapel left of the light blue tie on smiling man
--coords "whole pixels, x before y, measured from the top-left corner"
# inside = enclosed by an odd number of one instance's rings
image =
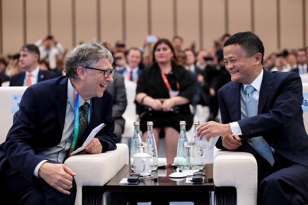
[[[228,90],[228,107],[232,122],[241,120],[241,83],[233,83]]]

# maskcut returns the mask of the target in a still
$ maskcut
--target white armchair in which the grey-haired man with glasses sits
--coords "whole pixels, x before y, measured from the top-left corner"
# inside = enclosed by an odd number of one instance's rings
[[[2,144],[6,135],[13,124],[12,98],[13,95],[22,95],[27,87],[0,87],[0,107],[2,116],[0,118],[0,144]],[[18,99],[16,99],[18,101]],[[102,203],[102,192],[98,195],[95,191],[91,194],[83,194],[83,186],[95,187],[104,186],[120,169],[128,164],[128,146],[126,144],[116,144],[117,149],[107,151],[98,155],[87,153],[76,154],[65,161],[65,165],[71,168],[75,173],[77,184],[77,195],[75,205],[83,204],[83,201],[91,200]],[[95,195],[96,193],[96,195]],[[84,203],[87,204],[87,203]]]

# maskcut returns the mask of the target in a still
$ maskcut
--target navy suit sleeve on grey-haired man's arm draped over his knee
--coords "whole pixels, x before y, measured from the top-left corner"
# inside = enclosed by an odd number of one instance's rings
[[[27,88],[3,145],[5,157],[11,166],[31,180],[36,165],[42,160],[47,160],[44,156],[36,155],[31,148],[31,145],[35,144],[34,133],[39,118],[39,106],[36,105],[39,101],[36,90],[32,87]]]

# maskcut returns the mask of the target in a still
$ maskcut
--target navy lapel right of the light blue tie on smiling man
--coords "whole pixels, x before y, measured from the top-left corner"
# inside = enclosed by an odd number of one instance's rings
[[[263,69],[263,79],[260,87],[260,94],[259,94],[259,105],[258,105],[258,115],[261,114],[267,99],[270,96],[270,93],[273,90],[271,86],[274,83],[274,76],[273,73],[269,70]]]

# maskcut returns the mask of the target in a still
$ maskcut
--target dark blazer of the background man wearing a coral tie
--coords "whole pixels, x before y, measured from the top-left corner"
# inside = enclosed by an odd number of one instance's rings
[[[13,75],[10,80],[10,86],[23,86],[25,75],[26,75],[26,72]],[[39,70],[38,83],[42,81],[50,80],[56,77],[57,75],[53,72],[46,71],[46,70]]]

